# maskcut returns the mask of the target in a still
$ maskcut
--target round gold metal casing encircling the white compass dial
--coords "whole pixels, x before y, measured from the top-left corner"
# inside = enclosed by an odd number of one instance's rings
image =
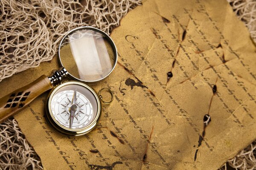
[[[96,99],[96,102],[97,102],[97,113],[96,113],[96,116],[95,116],[94,120],[89,125],[87,125],[87,126],[85,126],[83,128],[71,129],[71,128],[64,127],[63,125],[61,125],[54,118],[52,110],[50,109],[51,108],[50,104],[51,104],[51,101],[52,101],[52,97],[54,96],[56,91],[58,91],[60,88],[66,86],[66,85],[81,85],[82,87],[84,87],[87,90],[89,90],[93,94],[95,99]],[[46,107],[45,107],[45,113],[46,113],[46,117],[47,117],[48,122],[53,127],[55,127],[55,129],[57,129],[59,132],[64,133],[66,135],[72,135],[72,136],[81,136],[81,135],[89,133],[91,130],[93,130],[93,128],[99,122],[99,118],[101,116],[101,112],[102,112],[102,103],[101,103],[101,100],[99,98],[99,95],[93,90],[93,88],[90,88],[88,85],[85,85],[84,83],[78,82],[78,81],[63,82],[60,85],[56,86],[55,88],[52,88],[52,90],[48,94],[47,101],[46,101]]]

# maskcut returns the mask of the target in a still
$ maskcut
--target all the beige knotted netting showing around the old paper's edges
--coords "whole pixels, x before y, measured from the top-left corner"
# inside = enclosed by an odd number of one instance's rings
[[[256,42],[256,1],[228,0]],[[79,26],[106,33],[141,0],[0,0],[0,81],[56,54],[61,37]],[[256,169],[256,141],[221,169]],[[15,119],[0,124],[0,169],[43,169]]]

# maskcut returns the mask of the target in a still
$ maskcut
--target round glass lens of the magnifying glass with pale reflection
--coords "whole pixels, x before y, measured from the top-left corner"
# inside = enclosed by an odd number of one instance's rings
[[[96,82],[107,77],[113,70],[116,48],[104,32],[84,27],[64,37],[59,58],[71,76],[86,82]]]

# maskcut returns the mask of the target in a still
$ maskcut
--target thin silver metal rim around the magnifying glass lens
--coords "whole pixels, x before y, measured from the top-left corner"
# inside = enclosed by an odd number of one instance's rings
[[[89,82],[89,83],[96,83],[96,82],[99,82],[99,81],[105,79],[106,77],[108,77],[109,74],[111,74],[111,72],[113,71],[113,69],[116,67],[116,63],[117,63],[117,49],[116,49],[116,45],[115,45],[115,43],[113,42],[113,40],[111,39],[111,37],[110,37],[108,34],[106,34],[105,32],[103,32],[103,31],[101,31],[100,29],[98,29],[98,28],[94,28],[94,27],[90,27],[90,26],[81,26],[81,27],[74,28],[74,29],[70,30],[69,32],[67,32],[67,34],[62,38],[61,43],[60,43],[59,48],[58,48],[58,59],[59,59],[60,65],[61,65],[62,67],[64,67],[64,65],[63,65],[62,62],[61,62],[61,56],[60,56],[60,51],[61,51],[61,44],[62,44],[62,42],[65,40],[65,38],[66,38],[68,35],[70,35],[72,32],[74,32],[74,31],[76,31],[76,30],[79,30],[79,29],[89,29],[89,30],[93,30],[93,31],[96,31],[96,32],[99,32],[99,33],[103,34],[103,35],[109,40],[109,42],[111,43],[111,46],[112,46],[112,48],[113,48],[113,52],[114,52],[114,55],[115,55],[115,63],[114,63],[114,65],[113,65],[113,68],[111,69],[111,71],[110,71],[105,77],[103,77],[103,78],[101,78],[101,79],[98,79],[98,80],[87,81],[87,80],[78,79],[78,78],[74,77],[72,74],[70,74],[70,73],[67,71],[68,76],[70,76],[70,77],[73,78],[73,79],[82,81],[82,82]],[[65,68],[65,67],[64,67],[64,68]]]

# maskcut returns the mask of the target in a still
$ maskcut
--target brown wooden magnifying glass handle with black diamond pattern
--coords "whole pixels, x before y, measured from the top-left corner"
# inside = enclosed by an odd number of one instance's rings
[[[36,97],[53,88],[46,75],[0,99],[0,123],[21,111]]]

